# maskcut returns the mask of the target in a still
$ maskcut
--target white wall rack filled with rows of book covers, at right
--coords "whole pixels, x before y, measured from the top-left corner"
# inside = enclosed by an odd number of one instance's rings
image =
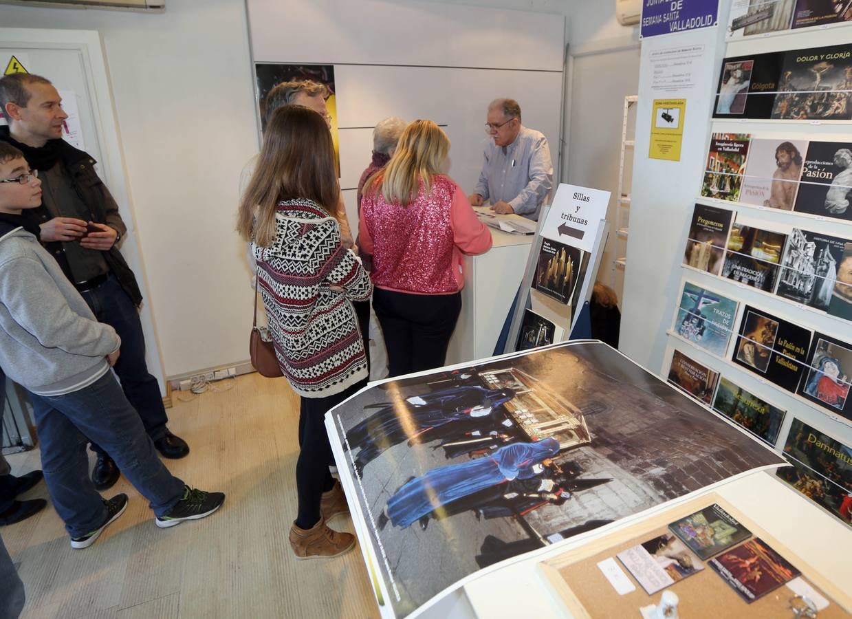
[[[661,372],[852,526],[852,22],[735,4]]]

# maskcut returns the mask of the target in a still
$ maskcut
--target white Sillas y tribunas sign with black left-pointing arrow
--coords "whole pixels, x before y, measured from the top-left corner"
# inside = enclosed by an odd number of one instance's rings
[[[607,205],[608,191],[560,184],[541,228],[541,235],[591,252],[601,220],[607,218]]]

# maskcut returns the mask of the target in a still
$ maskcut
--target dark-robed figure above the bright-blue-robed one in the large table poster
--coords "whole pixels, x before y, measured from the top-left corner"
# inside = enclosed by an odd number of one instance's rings
[[[350,449],[360,448],[354,460],[358,475],[385,449],[409,441],[427,443],[440,438],[430,431],[443,425],[489,418],[498,408],[515,397],[510,389],[487,389],[479,385],[458,385],[400,402],[383,402],[365,407],[376,409],[347,433]]]

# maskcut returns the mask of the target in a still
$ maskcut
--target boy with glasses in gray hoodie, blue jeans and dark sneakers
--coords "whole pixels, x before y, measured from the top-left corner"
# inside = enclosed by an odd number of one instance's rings
[[[41,204],[41,182],[20,151],[0,142],[0,367],[32,396],[44,479],[73,548],[91,546],[124,513],[89,479],[95,441],[150,501],[160,528],[215,512],[225,495],[193,489],[157,457],[110,367],[121,341],[95,320],[20,213]]]

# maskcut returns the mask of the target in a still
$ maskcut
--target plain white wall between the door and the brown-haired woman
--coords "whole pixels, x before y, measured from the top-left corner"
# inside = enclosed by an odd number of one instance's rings
[[[244,360],[252,299],[233,227],[257,147],[241,0],[170,0],[164,14],[3,6],[0,23],[101,32],[164,371]]]

